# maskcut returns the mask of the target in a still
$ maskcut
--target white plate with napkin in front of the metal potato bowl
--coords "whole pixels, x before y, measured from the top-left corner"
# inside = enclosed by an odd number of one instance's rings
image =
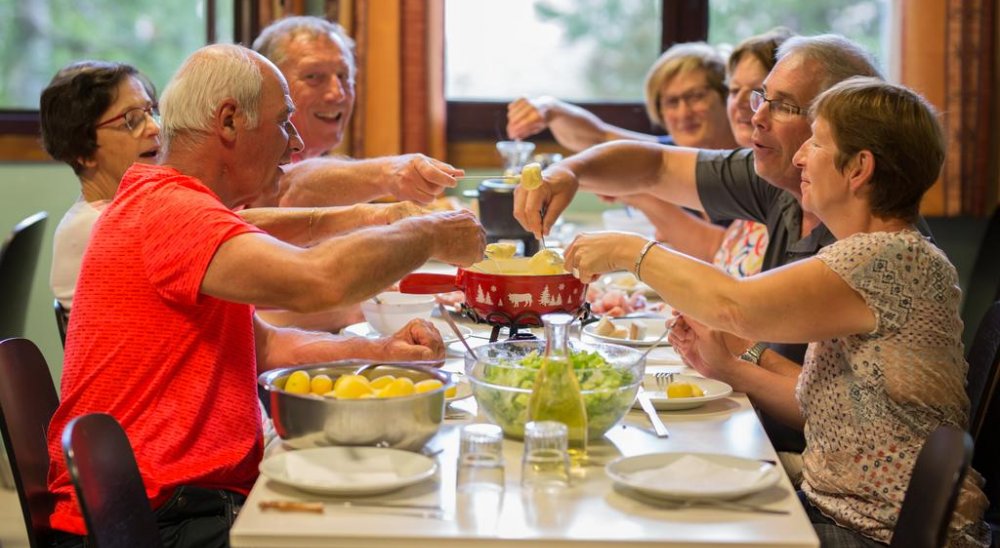
[[[315,447],[264,459],[260,473],[321,495],[374,495],[423,481],[437,462],[419,453],[381,447]]]

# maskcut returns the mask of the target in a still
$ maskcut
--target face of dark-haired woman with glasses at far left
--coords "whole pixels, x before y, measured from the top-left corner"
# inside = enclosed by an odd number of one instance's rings
[[[152,106],[142,82],[132,77],[122,80],[114,102],[97,120],[97,151],[84,160],[84,166],[117,182],[135,162],[155,164],[160,125],[148,112]]]

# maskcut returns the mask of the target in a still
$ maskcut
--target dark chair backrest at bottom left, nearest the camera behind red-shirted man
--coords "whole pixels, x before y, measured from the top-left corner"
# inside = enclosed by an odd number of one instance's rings
[[[135,454],[118,421],[103,413],[77,417],[63,430],[62,445],[94,546],[162,546]]]

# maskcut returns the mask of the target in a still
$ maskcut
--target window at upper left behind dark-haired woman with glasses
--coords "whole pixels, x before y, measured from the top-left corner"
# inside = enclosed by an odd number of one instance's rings
[[[233,41],[234,0],[0,0],[0,125],[37,133],[38,97],[78,59],[121,61],[158,91],[192,51]]]

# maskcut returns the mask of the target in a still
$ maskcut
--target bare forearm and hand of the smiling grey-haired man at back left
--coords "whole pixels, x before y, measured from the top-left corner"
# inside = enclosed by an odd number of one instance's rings
[[[390,195],[397,200],[429,204],[454,188],[465,172],[424,156],[404,154],[367,160],[314,158],[287,168],[277,204],[332,206],[366,202]]]

